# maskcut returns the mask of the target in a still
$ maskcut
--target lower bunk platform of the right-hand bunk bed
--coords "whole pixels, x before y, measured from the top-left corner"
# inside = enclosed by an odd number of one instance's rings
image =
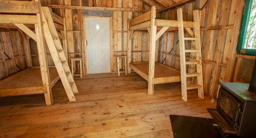
[[[145,80],[149,80],[149,62],[132,62],[130,68]],[[165,64],[155,62],[155,75],[153,84],[180,82],[180,71]]]

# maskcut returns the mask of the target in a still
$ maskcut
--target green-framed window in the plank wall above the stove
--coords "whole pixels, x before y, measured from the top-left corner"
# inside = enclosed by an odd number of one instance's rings
[[[256,0],[245,0],[236,52],[256,55]]]

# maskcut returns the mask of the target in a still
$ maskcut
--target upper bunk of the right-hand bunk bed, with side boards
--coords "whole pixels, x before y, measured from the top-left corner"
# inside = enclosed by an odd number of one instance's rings
[[[176,20],[162,20],[156,18],[156,9],[153,9],[141,16],[138,16],[129,23],[129,31],[149,31],[151,24],[157,27],[157,31],[176,31],[178,30],[179,21]],[[183,21],[184,28],[194,28],[195,22]]]

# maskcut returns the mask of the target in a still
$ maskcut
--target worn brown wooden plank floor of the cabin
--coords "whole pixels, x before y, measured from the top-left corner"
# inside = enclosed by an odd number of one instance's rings
[[[54,105],[44,95],[0,97],[0,137],[172,137],[170,114],[210,117],[210,98],[188,91],[181,99],[179,82],[155,85],[136,73],[93,74],[76,78],[77,101],[69,102],[58,81]]]

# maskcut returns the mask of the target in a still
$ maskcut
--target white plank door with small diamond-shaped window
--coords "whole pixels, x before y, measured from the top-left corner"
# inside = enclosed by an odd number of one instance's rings
[[[109,18],[85,18],[87,73],[110,73]]]

